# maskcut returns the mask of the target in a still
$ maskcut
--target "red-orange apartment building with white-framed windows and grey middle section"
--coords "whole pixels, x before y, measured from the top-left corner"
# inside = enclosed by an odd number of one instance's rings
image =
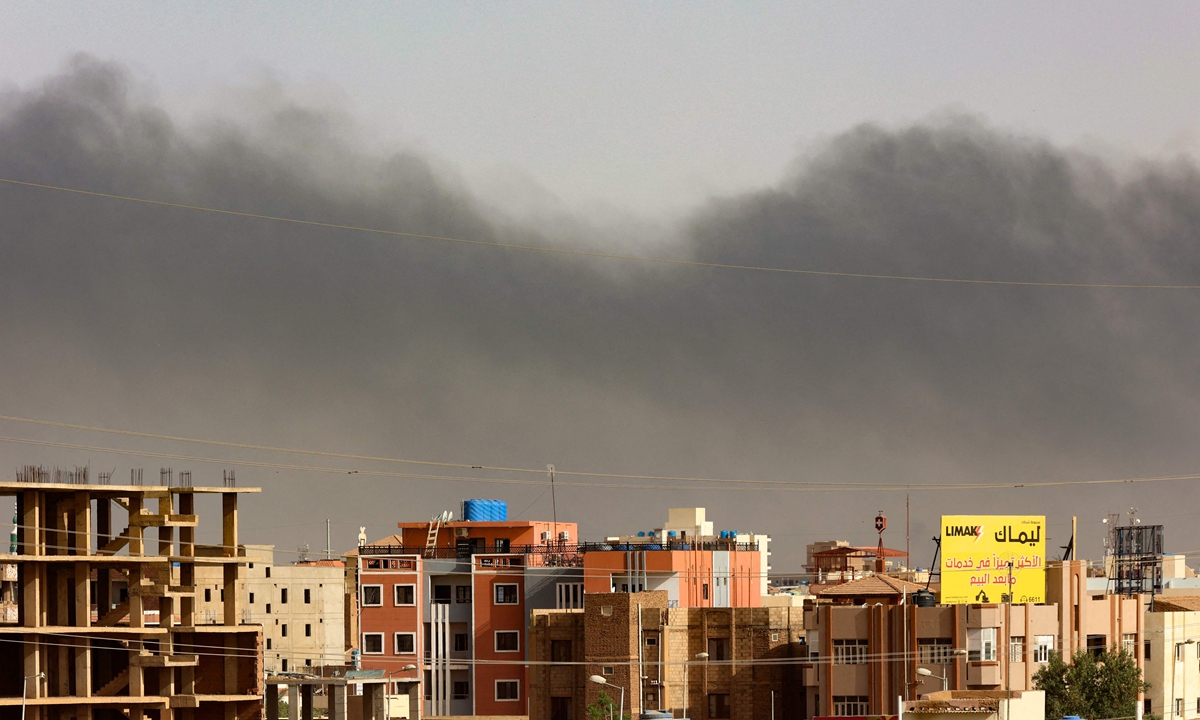
[[[583,604],[576,524],[434,518],[397,527],[389,541],[347,554],[356,568],[362,667],[386,671],[395,707],[407,707],[401,695],[419,677],[420,715],[526,715],[529,611]]]

